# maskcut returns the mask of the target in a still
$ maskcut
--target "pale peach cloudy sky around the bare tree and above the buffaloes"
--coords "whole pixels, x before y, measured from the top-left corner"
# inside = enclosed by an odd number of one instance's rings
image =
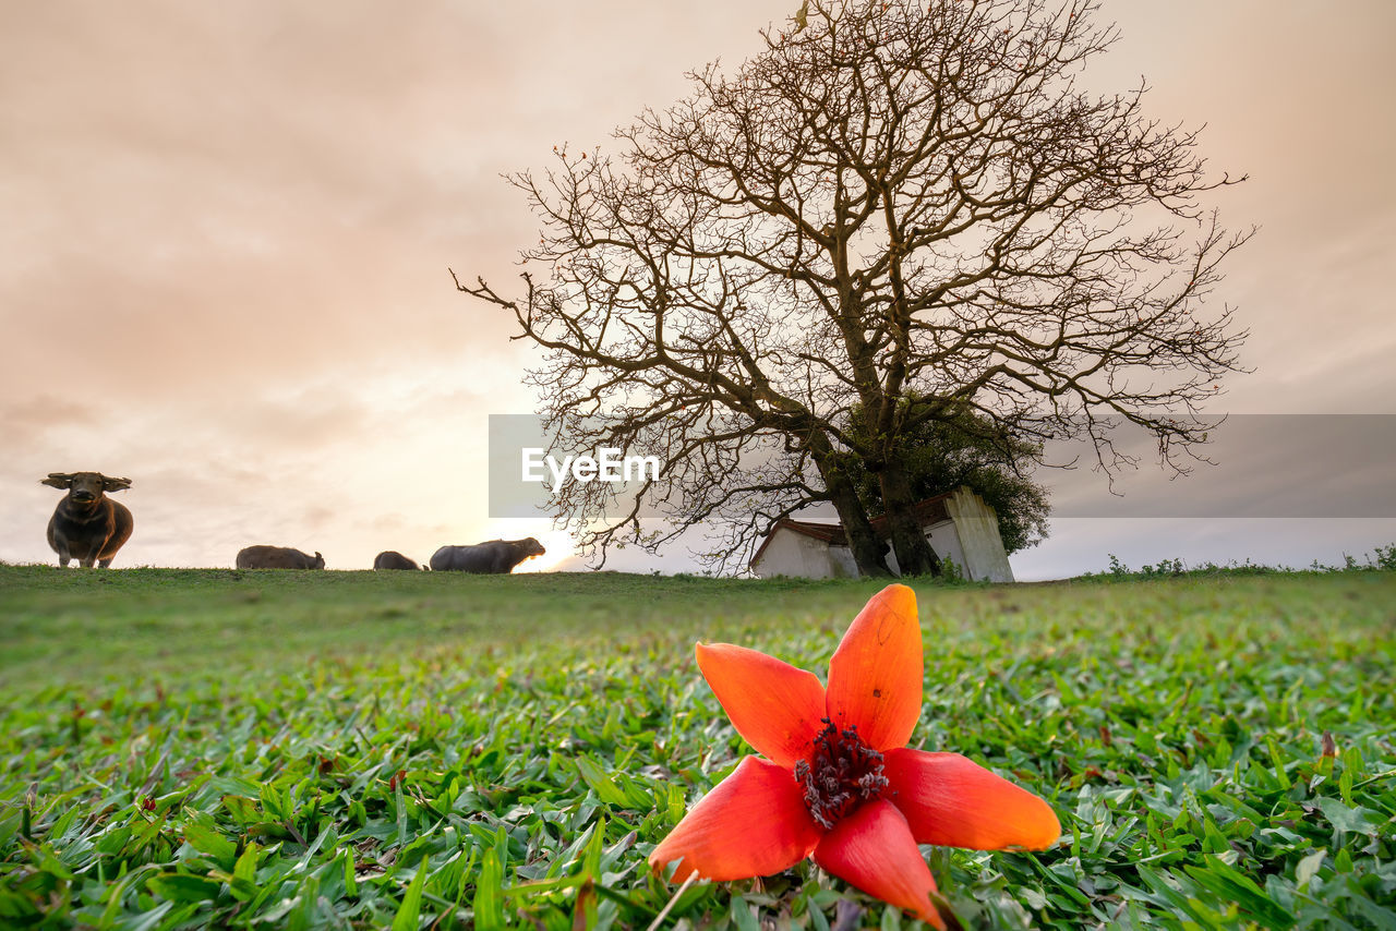
[[[578,568],[547,521],[489,518],[487,419],[533,410],[536,356],[448,269],[508,285],[537,223],[501,174],[607,142],[797,6],[11,6],[0,560],[52,561],[59,493],[39,479],[96,470],[133,480],[119,567],[226,567],[276,543],[353,569],[532,535],[549,554],[530,568]],[[1148,112],[1205,124],[1209,167],[1249,174],[1213,201],[1259,228],[1216,292],[1251,331],[1254,371],[1216,410],[1270,417],[1241,420],[1265,427],[1188,477],[1146,462],[1124,497],[1071,476],[1051,537],[1012,557],[1018,578],[1107,554],[1337,563],[1396,542],[1379,452],[1396,417],[1332,417],[1396,415],[1396,4],[1104,0],[1100,18],[1121,38],[1092,87],[1145,78]],[[1304,424],[1326,438],[1295,452]],[[1316,486],[1332,494],[1302,505]],[[1139,501],[1154,507],[1114,507]],[[609,567],[692,565],[681,547],[621,556]]]

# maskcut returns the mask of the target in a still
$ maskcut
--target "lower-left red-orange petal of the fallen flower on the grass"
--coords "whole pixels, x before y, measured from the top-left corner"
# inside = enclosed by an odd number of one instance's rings
[[[719,882],[768,877],[808,857],[819,835],[790,770],[745,757],[655,847],[649,867],[681,860],[674,882],[694,872]]]

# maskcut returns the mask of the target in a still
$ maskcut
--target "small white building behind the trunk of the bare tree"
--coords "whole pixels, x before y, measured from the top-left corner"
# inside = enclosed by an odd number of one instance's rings
[[[935,556],[952,560],[966,578],[974,582],[1013,581],[1004,540],[998,536],[998,516],[981,497],[960,486],[919,501],[914,512]],[[886,518],[872,521],[872,529],[879,539],[889,537]],[[896,554],[891,550],[886,564],[898,571]],[[807,579],[859,575],[843,525],[790,518],[771,528],[747,565],[764,579],[776,575]]]

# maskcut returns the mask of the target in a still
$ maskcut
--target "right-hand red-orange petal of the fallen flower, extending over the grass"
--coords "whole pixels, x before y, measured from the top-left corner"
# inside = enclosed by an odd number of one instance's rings
[[[917,843],[973,850],[1046,850],[1061,836],[1043,798],[959,754],[889,750],[882,757],[889,800]]]

